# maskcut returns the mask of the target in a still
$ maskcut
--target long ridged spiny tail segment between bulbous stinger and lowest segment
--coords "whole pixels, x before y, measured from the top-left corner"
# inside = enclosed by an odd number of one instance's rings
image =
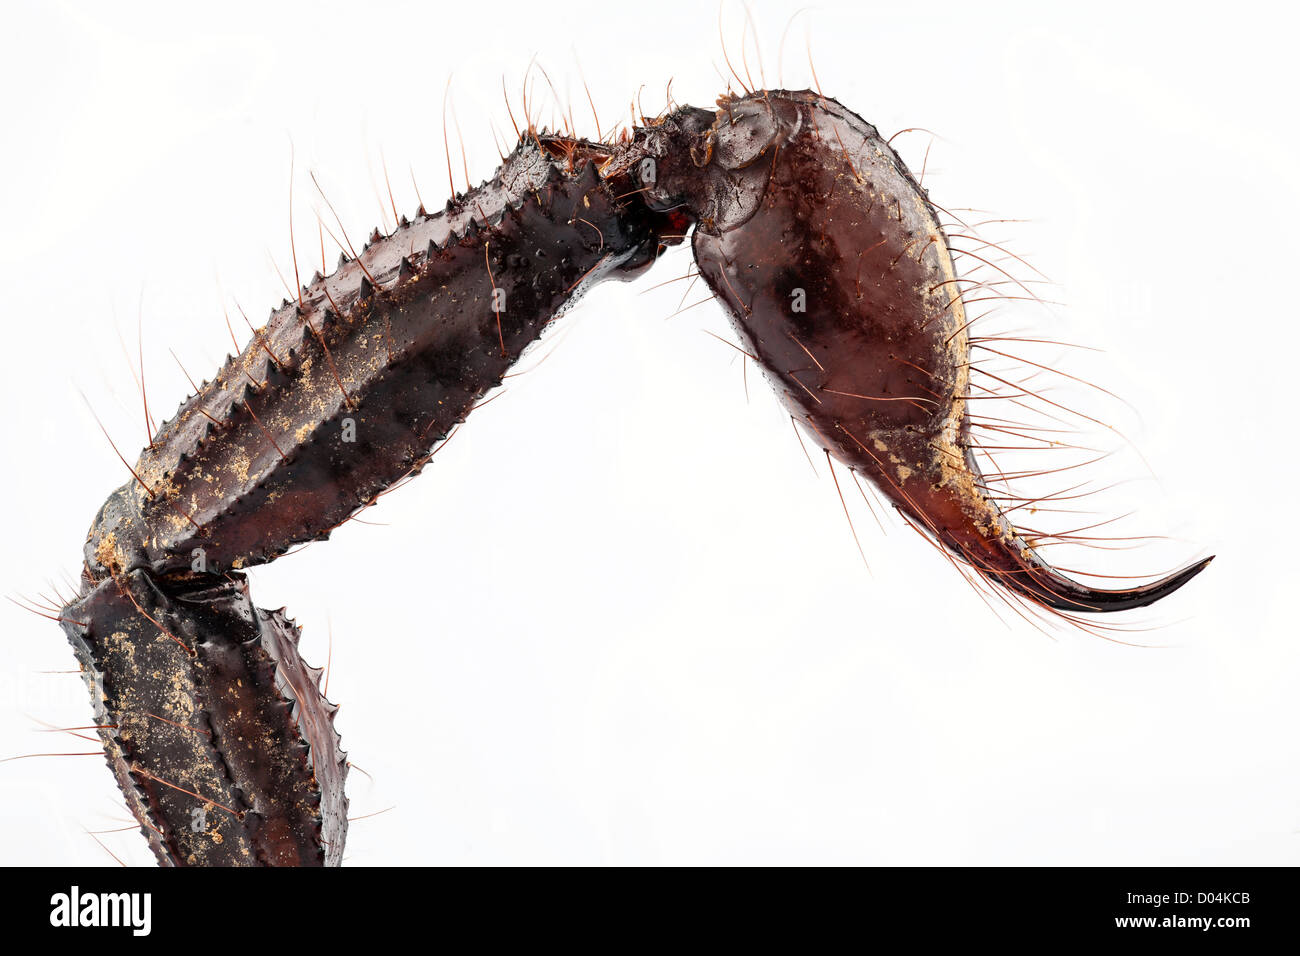
[[[490,183],[376,234],[273,312],[159,429],[87,566],[188,571],[202,548],[222,571],[324,537],[419,471],[585,285],[655,247],[593,163],[566,173],[525,142]]]

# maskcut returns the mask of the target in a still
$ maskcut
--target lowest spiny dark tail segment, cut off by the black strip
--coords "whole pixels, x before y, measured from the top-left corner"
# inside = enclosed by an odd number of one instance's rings
[[[242,576],[161,591],[143,571],[64,611],[127,806],[164,864],[337,864],[347,765],[298,628]]]

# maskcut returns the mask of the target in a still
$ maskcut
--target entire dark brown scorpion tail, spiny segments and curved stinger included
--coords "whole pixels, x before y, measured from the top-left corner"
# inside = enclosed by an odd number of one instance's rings
[[[719,105],[614,144],[530,129],[493,179],[313,277],[159,429],[100,510],[60,617],[160,862],[341,860],[333,705],[239,568],[328,537],[419,472],[585,289],[692,226],[701,273],[794,418],[994,583],[1122,610],[1205,566],[1128,591],[1046,566],[982,490],[966,317],[926,194],[835,100]]]

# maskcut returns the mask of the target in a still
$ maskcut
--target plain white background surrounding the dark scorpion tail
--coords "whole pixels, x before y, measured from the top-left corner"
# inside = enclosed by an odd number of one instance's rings
[[[651,286],[688,271],[680,251],[588,297],[523,363],[543,365],[364,515],[382,527],[252,574],[254,598],[304,626],[309,661],[333,632],[338,726],[373,778],[354,773],[352,813],[395,806],[352,825],[350,862],[1300,862],[1295,25],[1271,5],[1164,9],[822,3],[784,47],[786,86],[810,85],[807,35],[827,94],[885,135],[940,134],[937,202],[1030,220],[989,235],[1067,306],[1009,307],[1013,325],[1106,350],[1057,355],[1140,410],[1096,406],[1143,458],[1117,442],[1091,476],[1134,480],[1095,503],[1139,509],[1115,533],[1169,536],[1075,561],[1219,555],[1128,620],[1153,630],[1126,640],[1157,646],[1002,620],[858,499],[864,570],[824,462],[814,475],[755,369],[746,402],[736,352],[701,332],[731,338],[722,312],[666,320],[685,284]],[[775,86],[796,4],[753,10]],[[708,105],[716,13],[10,7],[3,588],[30,598],[75,575],[126,477],[78,390],[134,459],[121,342],[134,362],[138,319],[166,416],[187,393],[168,349],[208,375],[230,349],[222,306],[260,323],[285,294],[270,258],[291,268],[291,147],[309,273],[308,169],[354,238],[387,204],[381,153],[399,209],[416,206],[410,169],[441,206],[448,75],[478,182],[490,124],[510,129],[503,74],[519,116],[537,55],[584,134],[578,64],[606,127],[638,90],[659,111],[670,78]],[[728,4],[741,72],[744,34]],[[894,143],[922,166],[928,135]],[[454,129],[452,166],[463,189]],[[75,676],[42,672],[73,666],[57,626],[0,615],[0,756],[95,749],[32,722],[90,717]],[[0,765],[4,862],[114,865],[84,830],[129,823],[100,757]],[[151,862],[135,832],[101,839]]]

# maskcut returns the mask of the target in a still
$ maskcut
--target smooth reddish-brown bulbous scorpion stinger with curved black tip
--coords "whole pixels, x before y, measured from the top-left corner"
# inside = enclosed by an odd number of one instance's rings
[[[1098,591],[1035,554],[971,451],[968,321],[927,194],[835,100],[762,91],[722,105],[685,148],[675,138],[647,202],[690,211],[701,274],[822,447],[958,559],[1058,611],[1141,607],[1209,563]]]

